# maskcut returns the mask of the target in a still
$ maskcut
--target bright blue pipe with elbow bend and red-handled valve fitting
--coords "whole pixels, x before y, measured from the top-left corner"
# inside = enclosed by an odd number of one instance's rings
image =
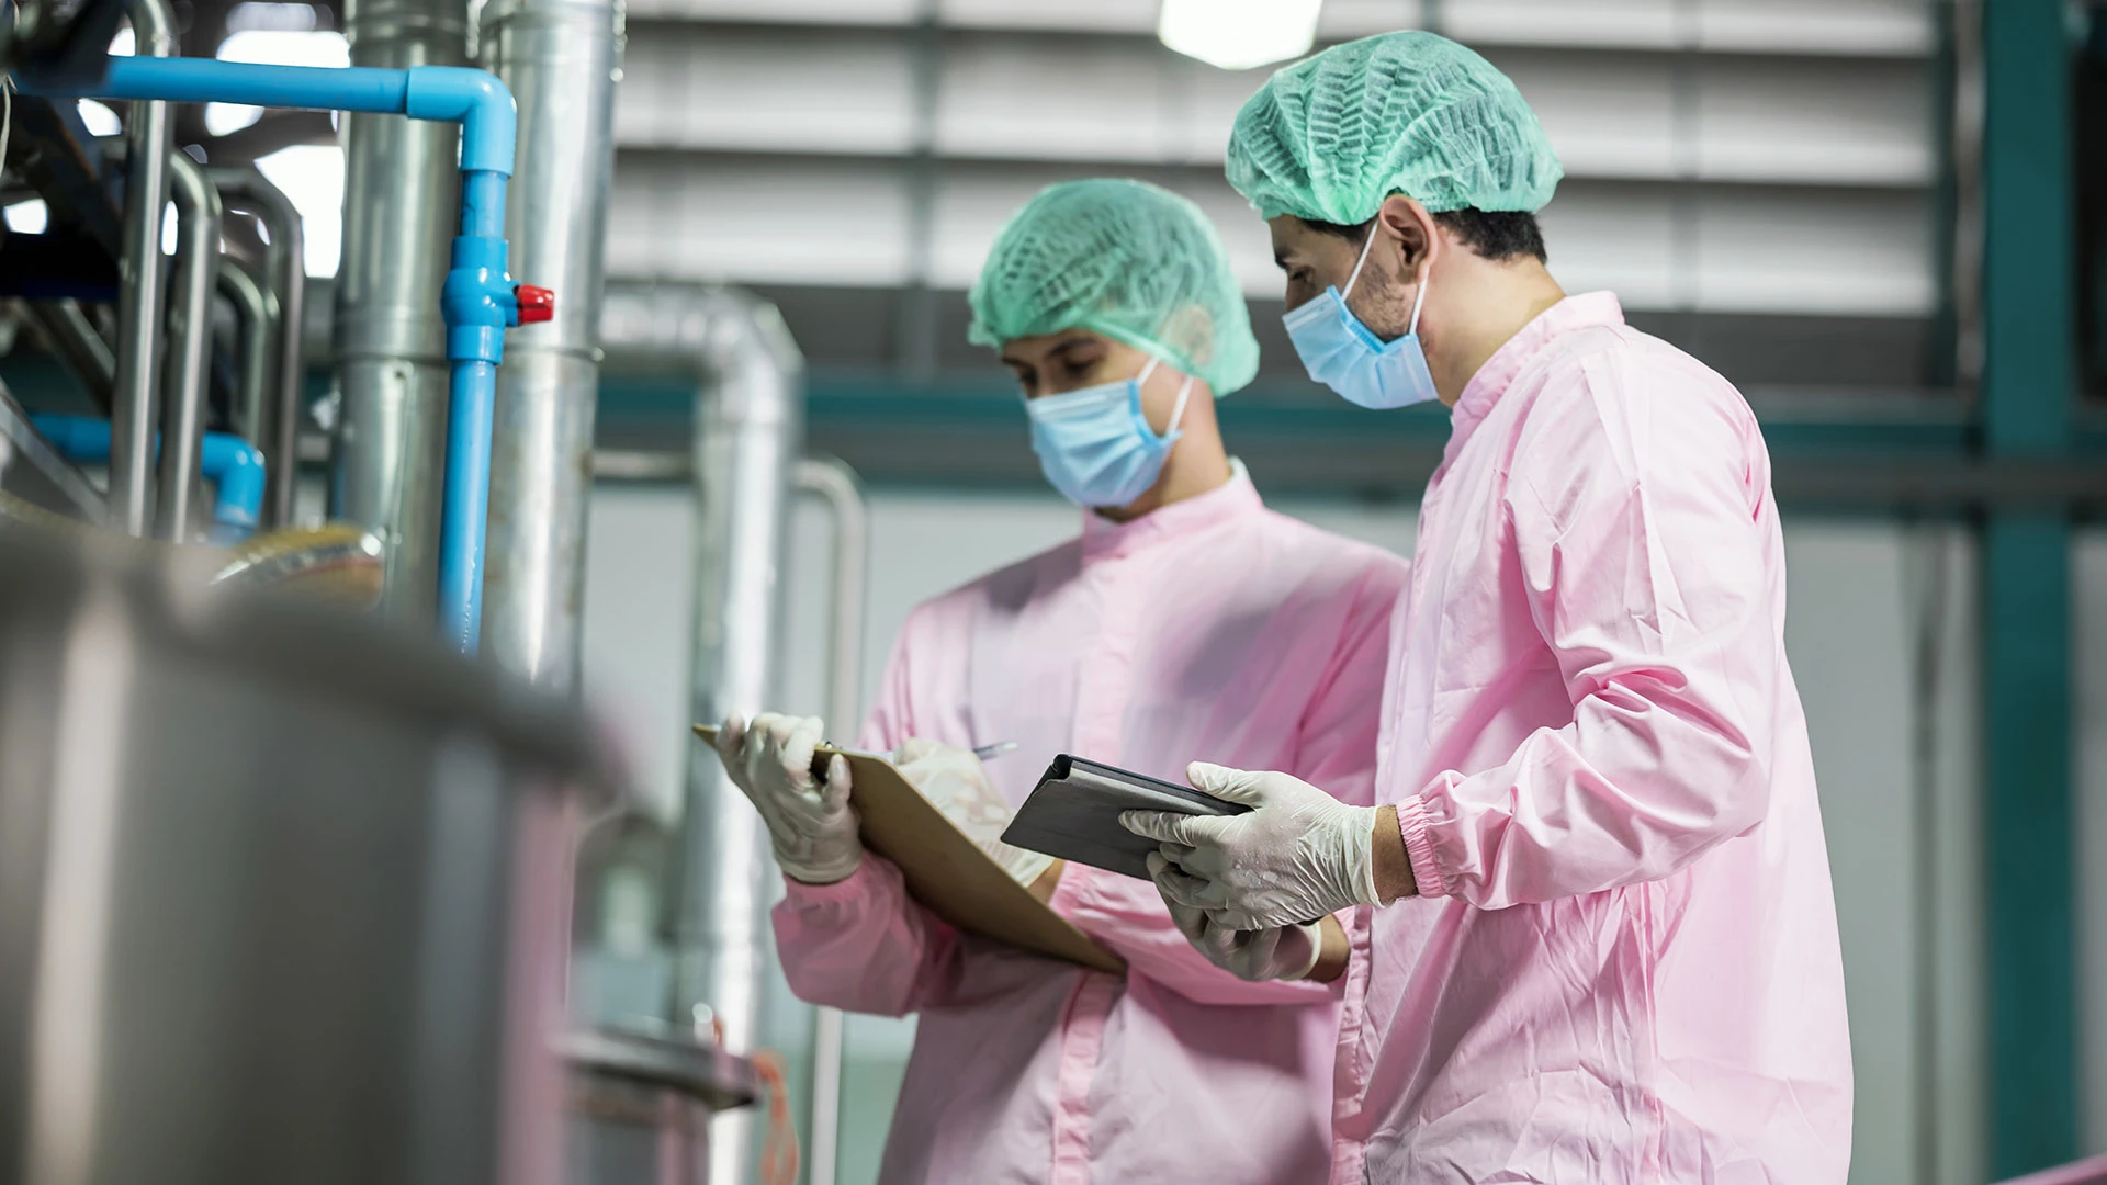
[[[518,139],[512,93],[497,76],[457,65],[409,70],[249,65],[196,57],[114,57],[103,82],[38,86],[32,95],[84,99],[169,99],[390,112],[461,124],[461,232],[440,310],[447,323],[451,411],[440,519],[440,628],[474,654],[483,628],[483,548],[491,502],[491,420],[506,329],[518,325],[518,299],[506,274],[506,177]],[[107,445],[105,445],[107,449]],[[230,470],[236,481],[247,481]]]

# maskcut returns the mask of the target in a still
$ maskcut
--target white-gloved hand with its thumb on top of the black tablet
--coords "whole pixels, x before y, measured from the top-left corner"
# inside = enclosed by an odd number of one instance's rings
[[[1287,774],[1195,761],[1186,780],[1247,814],[1193,816],[1129,810],[1119,824],[1157,839],[1169,865],[1163,900],[1207,911],[1228,930],[1315,921],[1376,900],[1376,808],[1346,805]]]

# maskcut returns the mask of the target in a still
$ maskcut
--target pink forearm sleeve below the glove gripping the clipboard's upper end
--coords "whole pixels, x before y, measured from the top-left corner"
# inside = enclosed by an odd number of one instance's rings
[[[830,886],[784,883],[775,951],[799,999],[904,1016],[929,1004],[957,964],[959,934],[908,898],[883,856],[866,854]]]

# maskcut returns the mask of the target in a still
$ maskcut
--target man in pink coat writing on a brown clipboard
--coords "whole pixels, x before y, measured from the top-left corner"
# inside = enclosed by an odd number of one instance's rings
[[[1195,953],[1148,881],[997,835],[1054,753],[1171,778],[1228,755],[1372,803],[1405,565],[1266,510],[1224,453],[1214,396],[1252,380],[1258,344],[1188,200],[1054,186],[1003,230],[971,304],[1083,533],[917,607],[860,746],[898,749],[927,797],[1127,974],[944,926],[858,843],[847,763],[813,780],[820,721],[731,719],[721,753],[786,873],[784,972],[815,1004],[919,1014],[889,1185],[1321,1179],[1340,924],[1245,945],[1237,966],[1264,972],[1252,983]],[[982,768],[969,751],[1005,740],[1016,759]]]

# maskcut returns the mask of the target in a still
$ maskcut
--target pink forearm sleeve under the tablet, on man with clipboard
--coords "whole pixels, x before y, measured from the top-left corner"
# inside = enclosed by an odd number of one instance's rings
[[[1245,983],[1209,964],[1171,924],[1153,881],[1064,865],[1047,905],[1125,959],[1127,974],[1153,978],[1195,1004],[1327,1004],[1334,997],[1327,983]]]

